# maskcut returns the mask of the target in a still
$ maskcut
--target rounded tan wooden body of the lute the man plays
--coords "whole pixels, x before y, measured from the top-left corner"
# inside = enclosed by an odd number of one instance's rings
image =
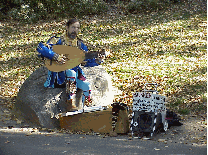
[[[85,53],[76,47],[66,45],[54,45],[53,51],[59,55],[66,57],[65,64],[59,64],[56,61],[46,59],[45,65],[48,70],[53,72],[60,72],[67,69],[72,69],[78,66],[85,59]]]

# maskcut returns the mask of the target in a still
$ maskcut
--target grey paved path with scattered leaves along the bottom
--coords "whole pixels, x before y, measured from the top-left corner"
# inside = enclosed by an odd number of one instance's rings
[[[16,130],[16,131],[15,131]],[[39,132],[37,129],[0,129],[0,155],[206,155],[206,146],[173,142],[129,139],[127,135],[103,135]]]

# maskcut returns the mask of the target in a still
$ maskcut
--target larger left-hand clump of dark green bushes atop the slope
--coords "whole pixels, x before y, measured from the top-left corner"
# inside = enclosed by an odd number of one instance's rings
[[[11,0],[10,0],[11,1]],[[13,7],[0,12],[1,19],[10,17],[23,22],[36,22],[40,19],[51,19],[69,16],[99,14],[107,11],[108,6],[103,0],[13,0],[20,7]],[[1,6],[1,10],[7,7]]]

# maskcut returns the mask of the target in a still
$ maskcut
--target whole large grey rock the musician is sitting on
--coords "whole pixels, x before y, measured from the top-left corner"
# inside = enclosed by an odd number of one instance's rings
[[[109,105],[113,102],[111,78],[102,66],[82,67],[91,83],[93,105]],[[33,126],[58,128],[60,112],[66,112],[65,88],[45,88],[48,70],[40,67],[25,80],[17,94],[17,117]]]

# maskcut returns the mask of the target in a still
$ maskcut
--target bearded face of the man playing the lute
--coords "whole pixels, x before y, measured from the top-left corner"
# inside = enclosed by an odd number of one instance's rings
[[[79,22],[71,24],[69,27],[67,27],[67,36],[71,39],[75,39],[79,33],[79,30],[80,30]]]

